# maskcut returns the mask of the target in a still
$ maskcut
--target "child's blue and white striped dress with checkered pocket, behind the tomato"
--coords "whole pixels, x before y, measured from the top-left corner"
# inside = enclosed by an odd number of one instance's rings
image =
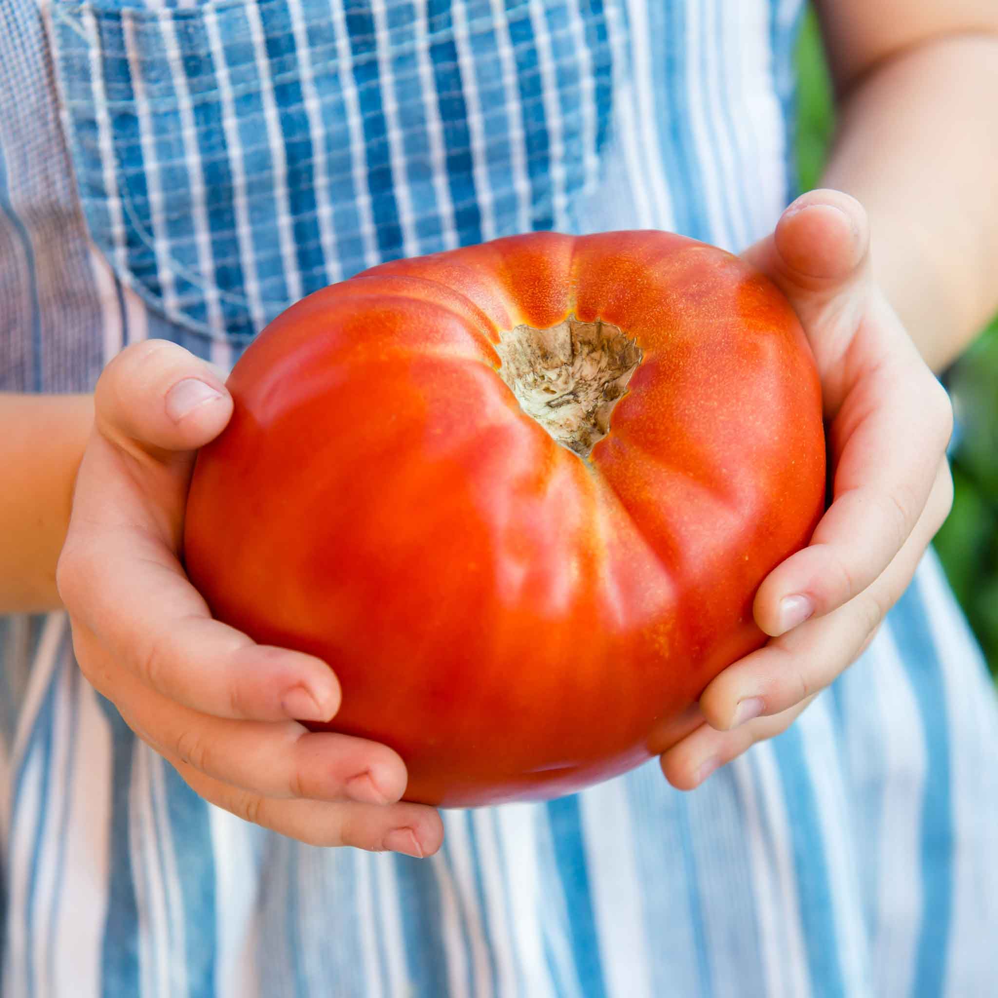
[[[737,249],[791,189],[797,0],[0,0],[0,386],[231,365],[296,296],[531,229]],[[445,814],[426,861],[195,796],[0,623],[5,996],[994,992],[998,714],[927,556],[862,660],[701,789]]]

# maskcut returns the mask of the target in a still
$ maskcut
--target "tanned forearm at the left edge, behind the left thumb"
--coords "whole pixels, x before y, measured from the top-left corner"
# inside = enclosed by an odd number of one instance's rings
[[[0,614],[61,605],[56,562],[93,414],[89,395],[0,393]]]

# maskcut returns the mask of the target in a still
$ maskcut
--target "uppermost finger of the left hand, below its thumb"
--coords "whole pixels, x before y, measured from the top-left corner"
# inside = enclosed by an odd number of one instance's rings
[[[89,530],[64,552],[59,587],[74,627],[98,635],[118,671],[195,711],[328,721],[339,708],[339,684],[324,662],[256,645],[212,620],[177,559],[143,531]]]

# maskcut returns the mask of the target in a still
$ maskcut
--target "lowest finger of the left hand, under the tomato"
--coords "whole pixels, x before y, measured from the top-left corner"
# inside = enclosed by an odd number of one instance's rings
[[[352,845],[423,858],[433,855],[443,842],[440,815],[426,804],[278,800],[212,779],[179,759],[171,762],[206,800],[245,821],[309,845]]]

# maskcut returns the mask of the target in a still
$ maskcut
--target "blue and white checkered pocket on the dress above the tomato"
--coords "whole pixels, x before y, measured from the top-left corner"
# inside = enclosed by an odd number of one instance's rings
[[[53,0],[93,240],[181,325],[245,341],[400,255],[573,227],[616,0]]]

